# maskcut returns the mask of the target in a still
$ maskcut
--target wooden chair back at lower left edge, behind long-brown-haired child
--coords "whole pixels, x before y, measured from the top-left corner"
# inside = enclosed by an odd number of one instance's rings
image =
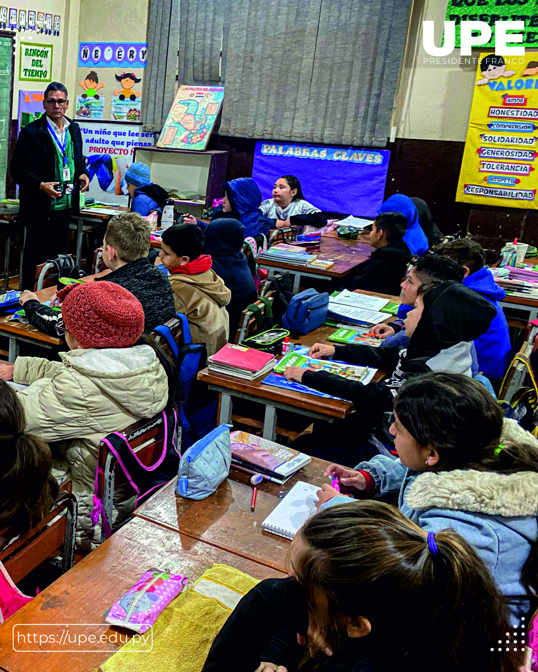
[[[65,489],[62,489],[65,488]],[[71,481],[61,486],[50,513],[38,525],[13,539],[9,527],[0,530],[1,539],[11,541],[0,551],[0,560],[13,583],[22,581],[44,560],[61,554],[62,573],[74,564],[77,531],[77,499]]]

